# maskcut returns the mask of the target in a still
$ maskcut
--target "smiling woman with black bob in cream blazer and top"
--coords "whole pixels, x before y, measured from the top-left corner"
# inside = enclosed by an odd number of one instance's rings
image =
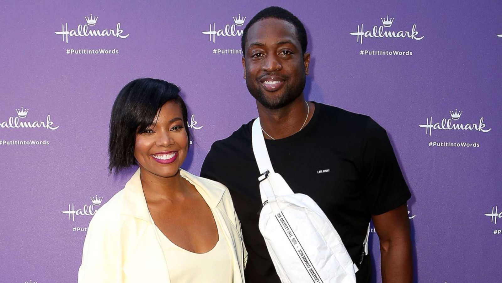
[[[80,283],[244,281],[246,251],[228,190],[180,169],[190,133],[179,91],[140,78],[118,93],[109,169],[139,169],[92,218]]]

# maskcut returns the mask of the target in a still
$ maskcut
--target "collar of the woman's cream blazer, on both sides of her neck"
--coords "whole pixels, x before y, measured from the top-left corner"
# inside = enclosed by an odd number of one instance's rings
[[[214,209],[220,203],[225,193],[222,185],[197,177],[183,169],[180,169],[180,175],[192,183],[207,205]],[[124,199],[121,208],[121,214],[129,215],[150,222],[150,212],[148,211],[147,201],[143,193],[143,185],[140,179],[140,168],[136,170],[131,179],[123,188]]]

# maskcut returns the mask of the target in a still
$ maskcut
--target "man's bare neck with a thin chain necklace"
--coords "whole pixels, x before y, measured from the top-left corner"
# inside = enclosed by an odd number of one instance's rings
[[[307,107],[303,94],[292,103],[279,109],[266,108],[258,101],[257,107],[260,124],[267,133],[264,133],[266,139],[271,139],[271,137],[273,139],[283,139],[298,133],[302,126],[307,125],[314,113],[313,104],[309,104]]]

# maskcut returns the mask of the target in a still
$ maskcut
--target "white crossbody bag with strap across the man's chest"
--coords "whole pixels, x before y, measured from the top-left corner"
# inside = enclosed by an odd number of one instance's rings
[[[284,178],[274,172],[260,118],[253,123],[252,132],[253,152],[261,173],[259,228],[281,281],[356,283],[357,266],[324,212],[309,196],[293,193]],[[368,234],[364,255],[368,254]]]

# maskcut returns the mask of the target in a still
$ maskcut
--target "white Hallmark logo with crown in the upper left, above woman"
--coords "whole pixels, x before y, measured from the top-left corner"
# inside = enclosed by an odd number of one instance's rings
[[[129,34],[122,35],[123,30],[120,28],[120,23],[117,23],[115,29],[103,29],[103,30],[90,30],[89,27],[96,25],[98,17],[92,16],[84,17],[86,24],[78,25],[76,29],[69,30],[68,23],[61,25],[60,32],[54,32],[57,35],[63,37],[63,41],[68,43],[68,36],[100,36],[100,37],[117,37],[117,38],[127,38]]]

